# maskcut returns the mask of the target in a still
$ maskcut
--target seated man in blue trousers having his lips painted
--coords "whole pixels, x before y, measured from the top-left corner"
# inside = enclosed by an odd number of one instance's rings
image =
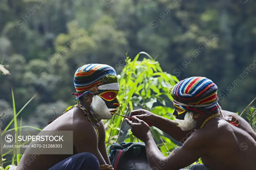
[[[104,64],[87,64],[74,75],[79,104],[48,122],[43,131],[73,131],[73,155],[23,155],[17,170],[113,169],[105,145],[102,119],[111,119],[119,107],[115,70]],[[72,146],[71,146],[72,147]],[[65,149],[65,148],[63,148]],[[108,165],[109,166],[108,166]]]

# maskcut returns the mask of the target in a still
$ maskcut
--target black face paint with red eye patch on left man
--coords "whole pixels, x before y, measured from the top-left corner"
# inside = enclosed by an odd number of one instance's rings
[[[110,90],[110,91],[106,91],[99,94],[99,96],[104,100],[106,106],[109,109],[116,109],[117,107],[120,106],[119,101],[116,98],[117,94],[118,94],[118,91]]]

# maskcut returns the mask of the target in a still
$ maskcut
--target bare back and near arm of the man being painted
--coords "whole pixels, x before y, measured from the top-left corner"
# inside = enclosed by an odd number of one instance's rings
[[[46,126],[43,130],[72,130],[73,154],[90,152],[98,158],[101,164],[105,164],[104,158],[98,149],[97,133],[79,108],[69,110]],[[102,135],[102,133],[99,133],[99,139]],[[27,170],[46,170],[70,156],[72,155],[23,155],[17,170],[22,168]]]

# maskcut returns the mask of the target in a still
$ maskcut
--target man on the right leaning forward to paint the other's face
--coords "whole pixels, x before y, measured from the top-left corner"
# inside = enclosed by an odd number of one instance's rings
[[[217,103],[217,86],[205,77],[190,77],[177,83],[173,97],[175,121],[138,109],[126,119],[134,136],[146,144],[152,169],[178,170],[199,158],[204,164],[194,170],[256,169],[256,133],[235,113],[224,111]],[[183,143],[165,157],[157,148],[147,123]]]

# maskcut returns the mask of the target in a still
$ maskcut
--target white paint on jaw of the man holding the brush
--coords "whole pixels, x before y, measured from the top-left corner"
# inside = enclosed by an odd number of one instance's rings
[[[176,123],[178,123],[178,127],[180,127],[181,130],[187,131],[191,130],[196,127],[196,121],[193,119],[193,113],[192,112],[187,112],[184,120],[180,119],[174,119]]]

